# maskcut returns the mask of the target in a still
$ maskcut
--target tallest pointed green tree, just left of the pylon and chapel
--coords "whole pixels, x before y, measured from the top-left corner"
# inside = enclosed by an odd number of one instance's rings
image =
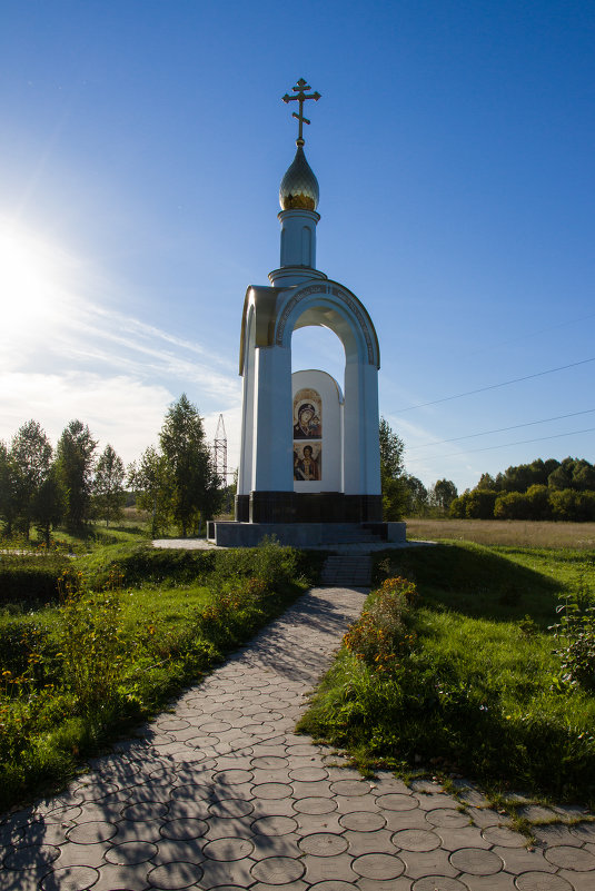
[[[171,481],[171,513],[186,537],[192,528],[198,532],[200,519],[217,509],[220,481],[205,438],[202,418],[185,393],[168,409],[159,442]]]

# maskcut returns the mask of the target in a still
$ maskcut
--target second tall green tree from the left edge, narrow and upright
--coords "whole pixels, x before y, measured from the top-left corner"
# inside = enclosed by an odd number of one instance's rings
[[[71,420],[58,443],[58,472],[66,493],[66,522],[80,531],[89,518],[97,439],[81,420]]]

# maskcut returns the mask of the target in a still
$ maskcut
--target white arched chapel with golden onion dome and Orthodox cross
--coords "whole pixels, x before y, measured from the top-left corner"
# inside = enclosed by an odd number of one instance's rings
[[[299,546],[347,533],[353,541],[364,528],[385,539],[404,533],[404,524],[381,523],[378,338],[356,295],[316,268],[319,190],[303,125],[304,102],[320,95],[309,89],[299,80],[282,97],[298,103],[297,151],[279,190],[279,267],[269,285],[248,287],[244,301],[236,522],[214,524],[221,545],[252,545],[270,534]],[[344,380],[321,370],[291,375],[292,333],[309,325],[341,341]]]

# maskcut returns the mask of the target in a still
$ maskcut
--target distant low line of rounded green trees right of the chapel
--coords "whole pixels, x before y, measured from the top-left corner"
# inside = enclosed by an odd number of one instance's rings
[[[475,488],[453,501],[449,512],[472,519],[595,522],[595,466],[585,458],[537,458],[495,477],[482,474]]]

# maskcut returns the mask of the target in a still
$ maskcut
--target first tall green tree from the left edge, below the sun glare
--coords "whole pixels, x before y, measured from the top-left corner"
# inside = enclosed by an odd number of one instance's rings
[[[10,457],[16,472],[19,523],[28,538],[33,519],[33,501],[52,462],[50,440],[37,420],[28,420],[12,437]]]

